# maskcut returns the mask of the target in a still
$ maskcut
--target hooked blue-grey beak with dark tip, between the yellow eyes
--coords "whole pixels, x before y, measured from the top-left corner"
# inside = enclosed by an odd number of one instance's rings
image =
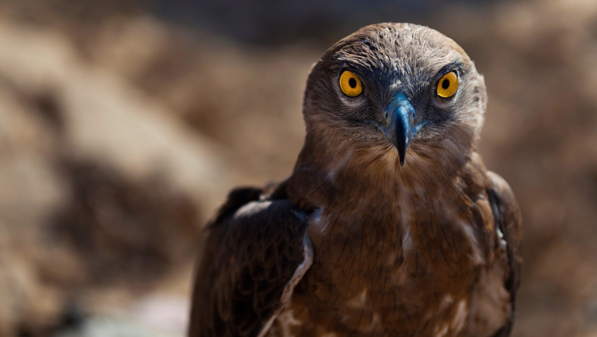
[[[385,115],[386,122],[383,125],[377,125],[377,127],[383,132],[386,139],[396,146],[400,157],[400,165],[403,166],[408,145],[416,136],[418,130],[421,130],[423,123],[415,124],[417,113],[407,96],[402,92],[395,94],[394,99],[386,108]]]

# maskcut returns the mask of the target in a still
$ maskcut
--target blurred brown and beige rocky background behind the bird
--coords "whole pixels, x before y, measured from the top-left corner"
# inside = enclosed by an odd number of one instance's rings
[[[290,174],[310,66],[376,22],[485,75],[522,209],[513,336],[597,336],[597,2],[0,1],[0,336],[182,336],[199,231]]]

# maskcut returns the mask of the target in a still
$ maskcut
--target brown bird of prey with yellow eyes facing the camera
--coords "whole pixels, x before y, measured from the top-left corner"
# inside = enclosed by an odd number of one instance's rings
[[[429,27],[363,27],[313,65],[293,173],[208,226],[189,335],[509,336],[521,215],[475,152],[484,78]]]

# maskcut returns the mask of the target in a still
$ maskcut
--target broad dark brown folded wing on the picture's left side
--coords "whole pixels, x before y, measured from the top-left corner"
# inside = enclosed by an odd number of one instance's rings
[[[306,215],[288,198],[232,191],[196,272],[189,336],[260,336],[313,261]]]

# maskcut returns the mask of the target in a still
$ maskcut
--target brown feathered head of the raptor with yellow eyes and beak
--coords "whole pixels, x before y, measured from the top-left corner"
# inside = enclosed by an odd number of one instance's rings
[[[416,24],[373,24],[313,66],[307,140],[394,154],[398,170],[410,160],[462,163],[479,140],[486,97],[483,77],[452,39]]]

